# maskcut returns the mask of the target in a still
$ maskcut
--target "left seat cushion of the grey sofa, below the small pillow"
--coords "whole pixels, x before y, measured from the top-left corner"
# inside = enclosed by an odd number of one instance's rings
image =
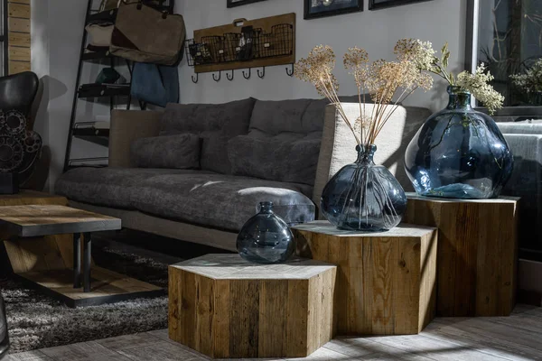
[[[141,181],[165,174],[193,172],[201,173],[192,170],[143,168],[75,168],[57,180],[55,193],[97,206],[134,209],[134,187]]]

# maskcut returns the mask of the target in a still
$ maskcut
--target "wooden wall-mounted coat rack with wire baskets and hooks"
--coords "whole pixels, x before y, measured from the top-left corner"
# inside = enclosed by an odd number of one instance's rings
[[[235,69],[244,69],[244,79],[250,79],[251,69],[264,79],[266,67],[290,65],[286,74],[293,75],[295,62],[295,14],[282,14],[248,21],[237,19],[231,24],[194,31],[194,38],[186,41],[186,59],[196,73],[212,72],[212,79],[220,81],[222,70],[233,80]]]

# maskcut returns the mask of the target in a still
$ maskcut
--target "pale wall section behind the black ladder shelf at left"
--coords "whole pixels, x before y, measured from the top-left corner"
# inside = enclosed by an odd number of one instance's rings
[[[99,0],[93,1],[98,8]],[[45,154],[50,157],[48,190],[52,190],[64,165],[87,5],[88,0],[32,0],[32,66],[43,85],[35,129],[42,135]],[[81,83],[94,82],[104,66],[85,62]],[[79,100],[76,119],[94,121],[108,114],[108,99]],[[79,139],[73,140],[72,149],[72,158],[107,156],[106,147]]]

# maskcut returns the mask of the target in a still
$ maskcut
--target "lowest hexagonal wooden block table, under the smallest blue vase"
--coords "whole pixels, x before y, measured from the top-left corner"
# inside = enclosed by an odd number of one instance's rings
[[[304,357],[333,336],[337,267],[204,255],[169,267],[169,337],[214,358]]]

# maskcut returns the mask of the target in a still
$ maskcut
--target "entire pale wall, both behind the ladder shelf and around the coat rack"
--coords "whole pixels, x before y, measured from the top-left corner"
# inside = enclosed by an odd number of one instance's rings
[[[68,3],[70,3],[68,5]],[[372,59],[392,59],[393,45],[398,39],[413,37],[434,42],[440,48],[450,43],[453,69],[463,69],[466,0],[433,0],[379,11],[344,14],[305,21],[302,0],[267,0],[252,5],[227,9],[226,0],[177,0],[177,13],[184,16],[187,33],[194,29],[225,23],[236,18],[255,19],[275,14],[296,13],[297,59],[318,44],[331,45],[338,56],[351,46],[358,45],[369,51]],[[33,5],[33,70],[45,87],[42,104],[36,117],[36,130],[42,134],[44,144],[51,152],[49,187],[61,174],[70,125],[70,112],[79,60],[79,47],[87,0],[32,0]],[[355,93],[350,76],[341,69],[338,59],[336,75],[341,82],[341,94]],[[86,65],[83,81],[92,82],[98,75],[98,65]],[[253,69],[251,79],[243,79],[236,70],[235,79],[229,81],[222,74],[220,82],[210,74],[201,74],[193,84],[193,69],[182,60],[180,67],[181,102],[220,103],[243,97],[260,99],[287,99],[318,97],[312,86],[290,78],[284,66],[266,69],[266,78],[259,79]],[[407,104],[427,106],[433,110],[445,104],[443,88],[418,92]],[[108,113],[103,103],[80,102],[79,121],[92,120]],[[107,149],[76,140],[75,157],[107,155]]]

